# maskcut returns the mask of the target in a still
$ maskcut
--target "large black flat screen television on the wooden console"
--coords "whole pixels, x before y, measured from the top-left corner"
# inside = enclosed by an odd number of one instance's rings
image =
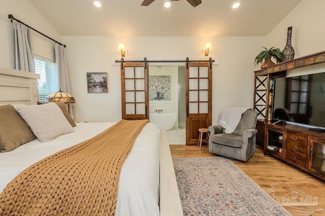
[[[272,118],[325,128],[325,72],[274,79]]]

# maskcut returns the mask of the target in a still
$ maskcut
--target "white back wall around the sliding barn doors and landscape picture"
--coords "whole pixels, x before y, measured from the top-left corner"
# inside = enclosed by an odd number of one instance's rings
[[[265,37],[62,36],[62,39],[67,44],[76,118],[88,122],[121,119],[120,67],[112,64],[120,59],[119,42],[125,44],[127,58],[185,60],[189,57],[196,60],[202,57],[205,42],[211,41],[212,58],[219,58],[219,65],[213,65],[214,124],[226,107],[252,107],[253,71],[258,69],[254,66],[254,58],[265,44]],[[87,94],[86,72],[108,72],[109,93]]]

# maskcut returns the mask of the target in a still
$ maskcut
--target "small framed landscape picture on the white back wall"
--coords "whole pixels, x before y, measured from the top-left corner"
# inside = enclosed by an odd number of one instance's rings
[[[107,73],[87,73],[88,93],[108,93]]]

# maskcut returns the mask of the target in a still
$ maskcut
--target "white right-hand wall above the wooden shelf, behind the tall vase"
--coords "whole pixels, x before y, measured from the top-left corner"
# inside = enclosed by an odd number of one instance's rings
[[[268,35],[268,47],[280,48],[286,44],[287,27],[293,27],[291,45],[295,58],[325,50],[325,1],[303,0]]]

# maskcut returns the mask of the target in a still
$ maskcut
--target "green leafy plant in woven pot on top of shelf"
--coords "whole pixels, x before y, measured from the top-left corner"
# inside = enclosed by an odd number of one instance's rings
[[[271,60],[273,57],[276,60],[276,63],[281,62],[281,51],[279,48],[271,47],[270,49],[267,49],[263,47],[265,50],[261,51],[256,57],[255,57],[255,65],[261,64],[261,69],[265,69],[267,67],[270,67],[272,65],[275,65],[275,63]]]

